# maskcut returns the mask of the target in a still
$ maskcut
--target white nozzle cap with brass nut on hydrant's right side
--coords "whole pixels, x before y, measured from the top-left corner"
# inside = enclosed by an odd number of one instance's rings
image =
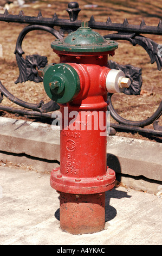
[[[131,80],[125,77],[121,70],[111,69],[106,77],[106,89],[109,93],[121,93],[123,88],[128,88]]]

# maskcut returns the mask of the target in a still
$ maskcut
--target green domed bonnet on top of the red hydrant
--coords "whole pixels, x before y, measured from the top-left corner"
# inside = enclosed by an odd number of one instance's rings
[[[103,38],[102,35],[88,27],[88,22],[65,39],[51,42],[51,48],[64,52],[107,52],[118,48],[117,42]]]

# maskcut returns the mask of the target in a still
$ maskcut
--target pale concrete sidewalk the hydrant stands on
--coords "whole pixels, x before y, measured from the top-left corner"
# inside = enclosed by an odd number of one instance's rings
[[[71,235],[59,227],[50,174],[0,167],[0,245],[161,245],[161,197],[117,187],[106,192],[105,230]]]

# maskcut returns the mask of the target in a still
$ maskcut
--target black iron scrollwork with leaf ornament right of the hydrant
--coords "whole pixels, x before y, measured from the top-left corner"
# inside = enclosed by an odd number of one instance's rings
[[[132,34],[128,34],[128,33],[116,33],[116,34],[110,34],[110,35],[106,35],[104,36],[105,38],[110,38],[112,40],[127,40],[129,42],[132,43],[133,46],[135,45],[140,45],[142,46],[145,51],[148,53],[148,55],[150,56],[151,59],[151,64],[153,64],[154,62],[157,63],[157,68],[160,71],[161,70],[161,66],[162,66],[162,57],[158,54],[158,44],[156,42],[154,42],[153,40],[146,38],[145,36],[142,35],[137,35],[135,33]],[[114,68],[116,69],[121,69],[121,70],[125,70],[125,74],[127,77],[131,78],[131,76],[134,76],[134,79],[131,79],[131,86],[127,89],[125,89],[124,93],[131,95],[131,94],[135,94],[135,95],[139,95],[140,94],[140,89],[142,86],[142,77],[141,77],[141,70],[138,68],[134,68],[133,66],[131,66],[131,69],[129,69],[129,65],[119,65],[117,63],[113,63],[113,62],[109,62],[109,65],[111,66],[111,68],[114,66]],[[128,68],[129,67],[129,68]],[[137,71],[137,74],[133,74],[130,75],[129,71],[133,71],[135,70],[135,72]],[[133,78],[132,76],[132,78]],[[124,124],[124,125],[131,125],[131,126],[139,126],[139,127],[145,127],[147,125],[150,125],[154,122],[154,120],[157,120],[161,114],[162,114],[162,101],[160,102],[159,107],[157,108],[157,110],[154,112],[154,114],[151,115],[151,117],[145,119],[145,120],[141,120],[141,121],[132,121],[132,120],[127,120],[125,118],[122,118],[114,109],[112,101],[111,101],[111,97],[112,94],[108,94],[108,100],[109,100],[109,105],[108,105],[108,110],[110,111],[112,117],[114,118],[114,120],[118,121],[119,124]]]

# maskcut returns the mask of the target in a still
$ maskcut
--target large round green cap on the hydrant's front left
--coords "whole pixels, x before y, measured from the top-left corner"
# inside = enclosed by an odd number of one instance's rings
[[[80,92],[80,79],[76,70],[66,64],[49,64],[43,72],[44,90],[57,103],[72,101]]]

